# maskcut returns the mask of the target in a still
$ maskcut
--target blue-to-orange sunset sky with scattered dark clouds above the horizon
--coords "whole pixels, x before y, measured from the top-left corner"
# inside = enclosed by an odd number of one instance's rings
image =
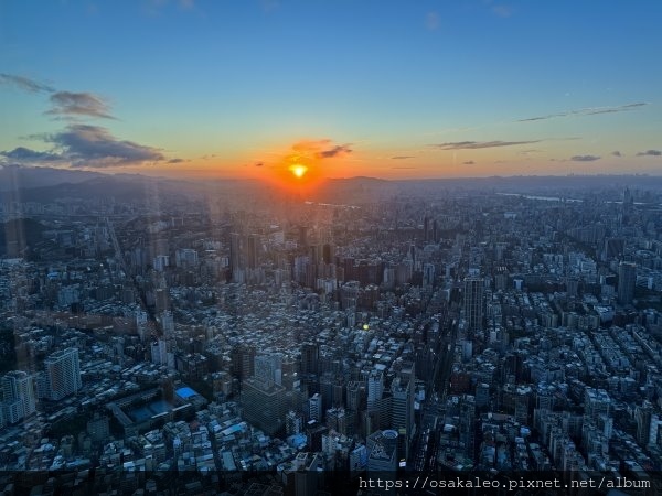
[[[656,1],[0,0],[0,164],[660,174],[661,21]]]

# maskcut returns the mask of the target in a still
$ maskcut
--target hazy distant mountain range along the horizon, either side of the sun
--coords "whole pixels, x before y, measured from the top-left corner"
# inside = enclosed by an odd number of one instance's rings
[[[506,193],[572,192],[589,187],[622,191],[626,186],[662,191],[662,176],[567,175],[510,176],[387,181],[375,177],[334,179],[323,183],[305,200],[354,203],[395,193],[426,194],[439,190],[484,190]],[[140,196],[171,195],[263,197],[273,186],[255,180],[171,180],[141,174],[106,174],[53,168],[0,165],[0,201],[49,203],[63,198],[93,200],[113,196],[130,201]],[[312,197],[308,197],[308,195]]]

